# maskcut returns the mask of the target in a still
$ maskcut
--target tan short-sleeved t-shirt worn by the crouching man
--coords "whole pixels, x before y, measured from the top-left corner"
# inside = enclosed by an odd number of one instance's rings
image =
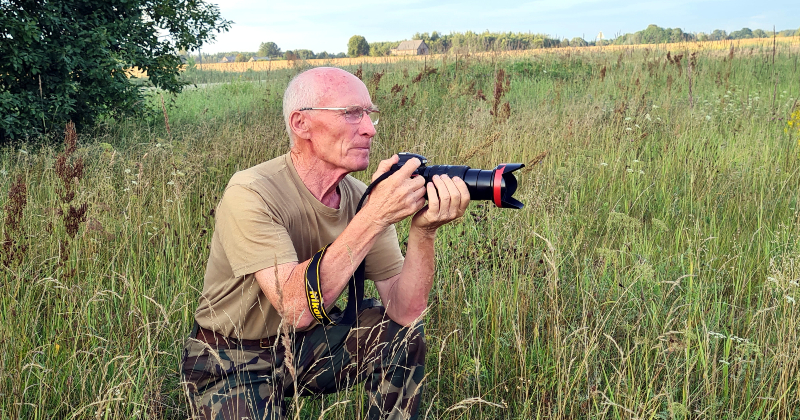
[[[234,174],[215,213],[197,323],[239,339],[277,334],[281,316],[255,273],[306,261],[342,233],[366,185],[348,175],[338,188],[339,208],[322,204],[303,184],[288,153]],[[386,280],[402,267],[397,232],[389,226],[367,254],[366,277]]]

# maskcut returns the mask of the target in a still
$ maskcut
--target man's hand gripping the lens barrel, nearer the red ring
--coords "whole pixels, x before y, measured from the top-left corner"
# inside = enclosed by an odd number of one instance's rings
[[[428,205],[411,219],[411,227],[434,234],[436,230],[464,215],[469,206],[469,189],[461,178],[434,175],[428,190]]]

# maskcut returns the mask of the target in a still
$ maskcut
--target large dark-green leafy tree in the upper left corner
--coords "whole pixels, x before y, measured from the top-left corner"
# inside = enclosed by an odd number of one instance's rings
[[[0,142],[135,112],[126,69],[180,92],[178,52],[232,22],[205,0],[0,0]]]

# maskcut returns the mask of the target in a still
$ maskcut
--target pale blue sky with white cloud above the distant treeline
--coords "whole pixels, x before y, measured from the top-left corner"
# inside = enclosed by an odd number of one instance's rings
[[[281,50],[347,51],[347,41],[411,39],[417,32],[531,32],[596,39],[643,30],[649,24],[684,32],[748,27],[800,28],[800,0],[536,0],[536,1],[264,1],[208,0],[233,21],[204,53],[257,51],[262,42]]]

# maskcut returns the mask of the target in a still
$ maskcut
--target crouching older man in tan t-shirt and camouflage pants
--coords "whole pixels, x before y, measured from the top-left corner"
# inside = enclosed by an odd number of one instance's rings
[[[434,238],[464,214],[469,191],[458,178],[412,178],[412,159],[356,213],[366,186],[348,174],[367,168],[379,115],[366,86],[315,68],[289,83],[283,108],[291,151],[236,173],[217,207],[182,361],[193,415],[281,419],[285,398],[364,381],[370,419],[417,418]],[[397,162],[382,161],[372,179]],[[394,224],[409,216],[403,258]],[[359,302],[352,325],[320,324],[309,308],[306,270],[328,244],[312,274],[330,316],[342,320],[334,303],[362,260],[384,305]]]

